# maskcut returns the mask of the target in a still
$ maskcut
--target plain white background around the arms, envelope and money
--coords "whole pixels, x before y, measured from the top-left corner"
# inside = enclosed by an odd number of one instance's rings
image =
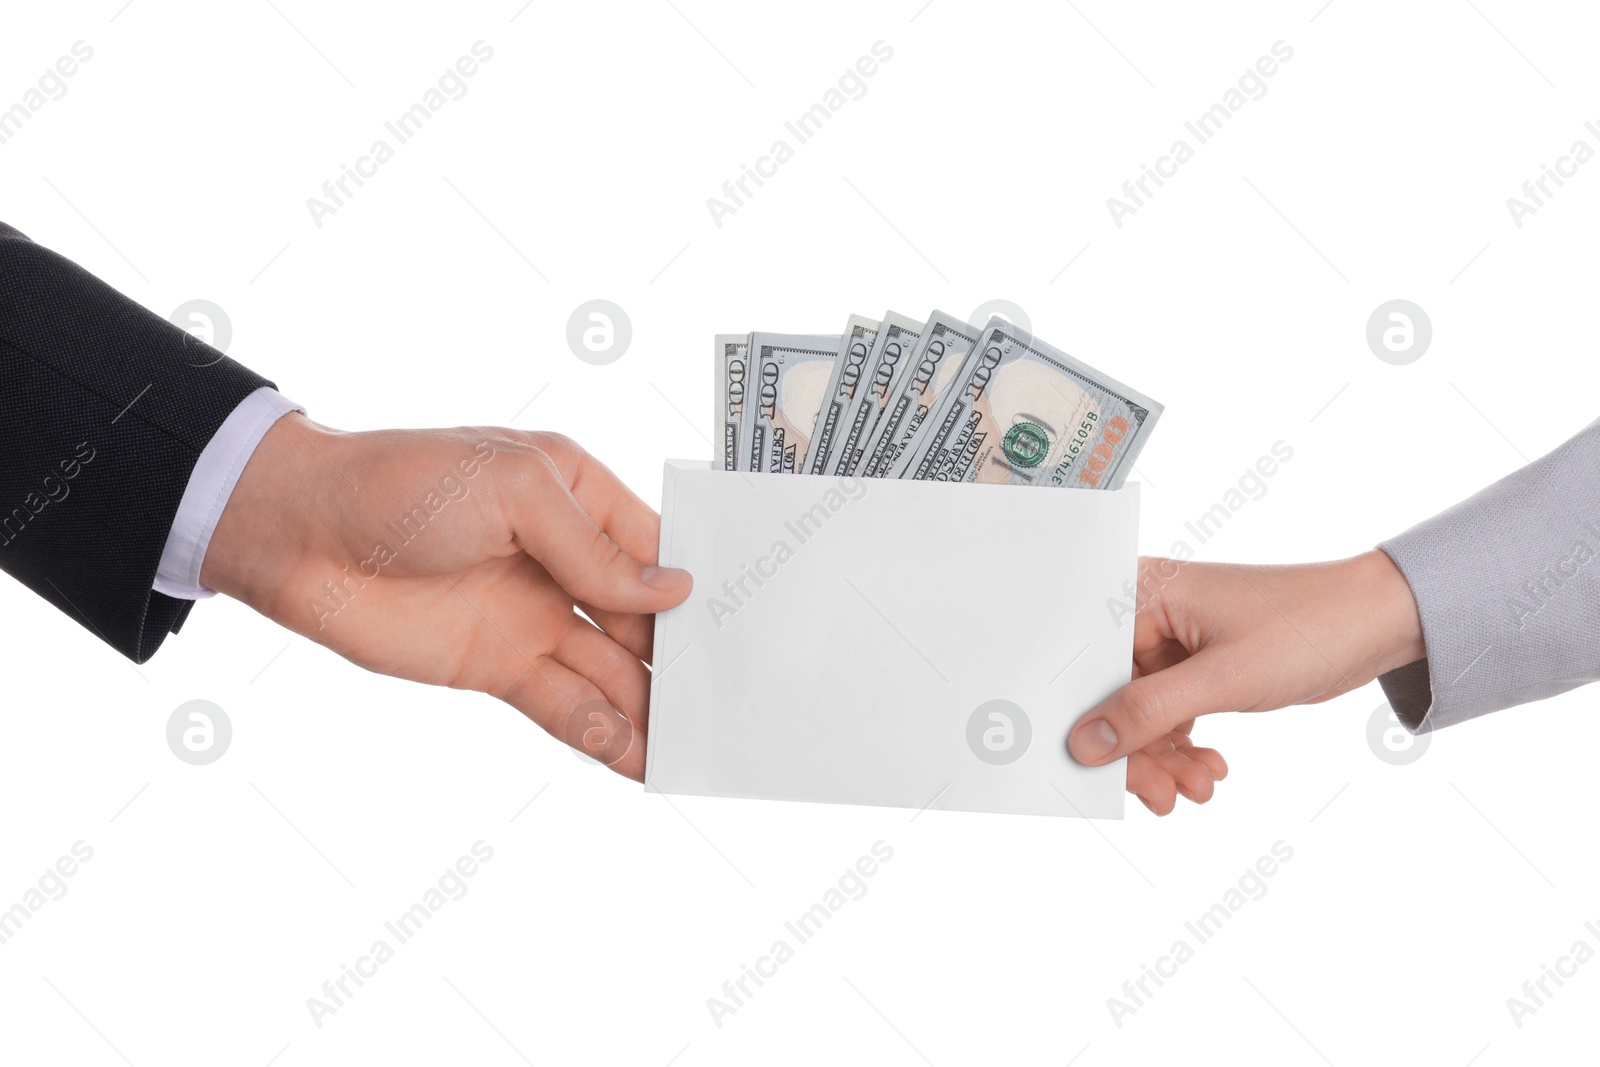
[[[557,429],[656,501],[666,456],[709,456],[714,333],[1003,298],[1166,405],[1146,552],[1282,440],[1267,494],[1197,549],[1296,561],[1595,414],[1600,163],[1520,229],[1506,208],[1576,138],[1600,147],[1579,5],[275,2],[16,5],[0,106],[74,42],[94,56],[0,146],[0,198],[162,315],[224,307],[229,354],[338,427]],[[469,93],[318,229],[306,198],[480,38]],[[706,198],[877,40],[867,94],[718,229]],[[1277,40],[1267,94],[1118,229],[1106,198]],[[634,323],[610,366],[565,342],[592,298]],[[1410,366],[1365,342],[1394,298],[1434,323]],[[1050,531],[1034,547],[1048,566]],[[1520,1029],[1506,1006],[1600,947],[1589,691],[1410,766],[1368,747],[1376,686],[1211,718],[1232,776],[1163,821],[912,821],[650,797],[488,697],[363,673],[224,600],[138,669],[14,582],[0,605],[0,907],[94,849],[0,945],[8,1062],[1592,1054],[1600,966]],[[234,723],[203,768],[165,742],[197,697]],[[318,1029],[307,997],[477,840],[470,893]],[[869,893],[717,1027],[707,997],[878,840]],[[1278,840],[1267,894],[1118,1027],[1107,998]]]

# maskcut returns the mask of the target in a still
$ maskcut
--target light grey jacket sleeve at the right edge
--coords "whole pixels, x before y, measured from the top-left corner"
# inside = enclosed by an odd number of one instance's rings
[[[1600,421],[1378,547],[1422,617],[1427,659],[1379,678],[1413,733],[1600,678]]]

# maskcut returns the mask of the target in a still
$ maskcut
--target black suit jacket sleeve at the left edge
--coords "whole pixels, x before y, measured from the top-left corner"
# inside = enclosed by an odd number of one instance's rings
[[[0,569],[144,662],[194,601],[152,589],[206,442],[272,382],[0,222]]]

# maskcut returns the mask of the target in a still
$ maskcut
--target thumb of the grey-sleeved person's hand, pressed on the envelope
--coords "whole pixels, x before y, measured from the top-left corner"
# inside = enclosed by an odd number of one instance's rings
[[[1083,713],[1067,734],[1067,750],[1078,763],[1099,766],[1138,752],[1197,715],[1237,710],[1238,701],[1222,678],[1205,654],[1134,678]]]

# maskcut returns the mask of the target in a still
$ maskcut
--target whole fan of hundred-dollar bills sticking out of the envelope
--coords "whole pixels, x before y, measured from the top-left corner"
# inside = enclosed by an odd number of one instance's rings
[[[718,334],[722,467],[1115,490],[1162,405],[1010,320]]]

